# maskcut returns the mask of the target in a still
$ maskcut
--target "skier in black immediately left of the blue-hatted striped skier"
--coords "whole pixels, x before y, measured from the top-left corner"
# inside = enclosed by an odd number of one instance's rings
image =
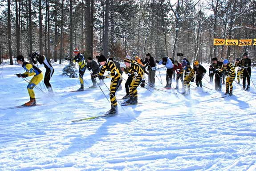
[[[221,80],[223,73],[221,72],[220,68],[222,68],[223,63],[218,61],[216,57],[212,58],[212,67],[215,69],[215,90],[221,91]]]

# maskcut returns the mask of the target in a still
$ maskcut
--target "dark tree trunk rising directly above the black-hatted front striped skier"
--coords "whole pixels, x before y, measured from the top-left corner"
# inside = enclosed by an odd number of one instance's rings
[[[106,0],[106,13],[104,24],[104,36],[103,36],[103,54],[108,56],[108,39],[109,39],[109,0]]]

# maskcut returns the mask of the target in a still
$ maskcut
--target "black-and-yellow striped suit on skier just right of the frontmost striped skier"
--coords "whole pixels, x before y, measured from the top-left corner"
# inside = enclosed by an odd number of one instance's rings
[[[144,70],[141,65],[136,63],[131,63],[128,68],[128,73],[132,76],[132,81],[130,83],[130,98],[138,98],[137,87],[141,83],[142,79],[144,79]]]

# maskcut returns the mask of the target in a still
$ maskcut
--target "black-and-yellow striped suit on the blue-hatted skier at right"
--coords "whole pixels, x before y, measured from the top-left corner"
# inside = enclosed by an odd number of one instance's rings
[[[236,71],[232,64],[223,65],[224,70],[228,73],[226,78],[226,92],[232,93],[233,91],[233,81],[236,78]],[[229,90],[229,91],[228,91]]]

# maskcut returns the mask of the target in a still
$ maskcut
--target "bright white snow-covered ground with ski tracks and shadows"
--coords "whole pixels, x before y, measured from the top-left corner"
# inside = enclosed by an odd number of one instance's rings
[[[23,68],[0,65],[0,171],[256,171],[252,83],[248,92],[234,82],[234,95],[226,98],[207,88],[191,87],[191,95],[183,96],[138,87],[141,104],[124,106],[125,111],[119,106],[113,117],[72,123],[102,115],[110,103],[99,88],[67,92],[78,89],[79,80],[61,76],[63,65],[53,66],[53,97],[35,88],[42,106],[4,109],[29,96],[27,83],[14,76]],[[160,72],[165,85],[165,69]],[[84,78],[91,86],[89,71]],[[214,89],[207,80],[208,74],[203,85]],[[255,68],[252,80],[256,83]],[[105,82],[109,86],[110,79]],[[125,95],[124,84],[118,99]],[[43,83],[38,87],[45,91]],[[109,97],[107,87],[102,89]]]

